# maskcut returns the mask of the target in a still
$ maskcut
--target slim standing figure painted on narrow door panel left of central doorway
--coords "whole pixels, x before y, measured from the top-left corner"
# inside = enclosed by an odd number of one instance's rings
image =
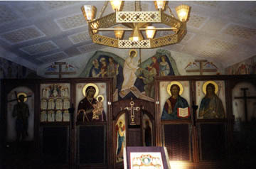
[[[124,138],[125,138],[125,125],[121,120],[119,124],[115,126],[117,133],[117,162],[123,159],[123,149],[124,149]]]

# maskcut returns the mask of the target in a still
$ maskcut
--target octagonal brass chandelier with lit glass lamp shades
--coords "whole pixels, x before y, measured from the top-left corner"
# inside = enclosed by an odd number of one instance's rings
[[[95,18],[97,11],[95,6],[81,7],[93,43],[114,48],[159,48],[178,43],[186,35],[186,21],[190,6],[176,6],[178,15],[176,18],[166,1],[154,1],[156,11],[141,11],[140,1],[135,1],[134,11],[122,11],[124,1],[114,0],[110,1],[114,13],[102,16],[107,3],[108,1],[105,1],[98,18]],[[164,13],[166,10],[169,14]],[[164,23],[168,27],[156,28],[153,25],[157,23]],[[100,35],[100,31],[114,31],[115,38]],[[132,31],[129,39],[122,39],[124,31]],[[142,35],[142,31],[146,32],[146,38]],[[164,36],[154,38],[156,31],[166,31],[169,34],[164,33]]]

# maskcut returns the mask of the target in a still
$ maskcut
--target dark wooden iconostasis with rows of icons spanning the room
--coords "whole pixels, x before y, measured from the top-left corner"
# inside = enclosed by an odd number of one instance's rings
[[[155,77],[154,100],[134,94],[114,102],[109,77],[3,80],[6,151],[29,143],[33,146],[22,147],[49,168],[60,164],[122,168],[123,150],[132,145],[165,146],[170,162],[193,166],[227,159],[233,131],[255,119],[255,102],[250,100],[255,96],[255,79],[255,75]],[[243,111],[245,98],[248,109]]]

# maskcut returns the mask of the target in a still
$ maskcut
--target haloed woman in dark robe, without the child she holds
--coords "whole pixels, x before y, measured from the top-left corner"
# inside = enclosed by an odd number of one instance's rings
[[[93,104],[97,104],[97,100],[95,99],[98,93],[97,86],[95,84],[87,84],[83,90],[85,90],[85,98],[78,104],[78,121],[105,121],[105,111],[95,114],[97,118],[93,119],[93,110],[95,109]]]

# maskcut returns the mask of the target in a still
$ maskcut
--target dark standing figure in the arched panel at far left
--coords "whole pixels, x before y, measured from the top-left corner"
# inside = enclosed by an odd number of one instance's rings
[[[16,141],[23,141],[28,136],[28,117],[29,109],[28,104],[24,103],[24,95],[18,97],[17,104],[14,105],[12,116],[16,117]]]

